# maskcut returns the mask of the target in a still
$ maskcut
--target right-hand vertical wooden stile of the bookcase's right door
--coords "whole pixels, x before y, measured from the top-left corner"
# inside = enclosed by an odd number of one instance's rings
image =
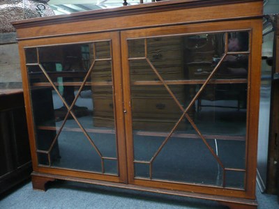
[[[246,190],[255,197],[256,186],[256,172],[257,172],[257,134],[258,134],[258,120],[259,120],[259,89],[260,89],[260,66],[262,45],[262,20],[257,20],[252,24],[251,30],[251,56],[250,56],[250,75],[249,75],[249,90],[248,90],[248,134],[247,134],[247,174]],[[252,102],[251,102],[252,101]]]

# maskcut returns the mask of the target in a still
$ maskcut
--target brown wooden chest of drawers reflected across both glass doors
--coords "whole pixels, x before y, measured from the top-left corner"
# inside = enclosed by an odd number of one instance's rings
[[[172,47],[169,47],[172,45]],[[174,79],[176,77],[183,78],[183,39],[182,38],[154,38],[148,42],[148,51],[150,52],[151,61],[159,68],[161,75],[166,79]],[[100,45],[99,50],[102,51],[106,45]],[[132,56],[144,52],[144,42],[135,42],[130,51]],[[176,63],[176,64],[174,64]],[[98,77],[92,79],[102,80],[104,82],[111,82],[110,65],[102,63],[96,65],[94,72]],[[149,79],[158,81],[158,77],[153,75],[151,68],[146,68],[146,64],[142,61],[135,61],[131,63],[131,80],[144,80],[146,76]],[[183,102],[183,86],[180,86],[179,100]],[[175,104],[172,98],[165,90],[165,87],[159,86],[154,91],[149,91],[146,94],[148,87],[135,87],[132,92],[133,98],[133,128],[135,130],[160,130],[169,129],[175,123],[175,119],[179,117],[179,113],[173,111]],[[114,126],[114,112],[112,98],[107,98],[107,92],[110,88],[92,88],[93,91],[93,121],[94,125],[98,127],[113,127]],[[177,90],[176,90],[177,91]],[[168,117],[162,118],[162,114],[168,114]]]

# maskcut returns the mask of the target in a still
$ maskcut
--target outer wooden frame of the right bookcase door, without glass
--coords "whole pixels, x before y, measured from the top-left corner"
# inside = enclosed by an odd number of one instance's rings
[[[150,38],[170,35],[190,35],[197,33],[220,33],[224,31],[250,31],[250,72],[248,75],[248,118],[246,134],[246,188],[230,189],[223,187],[211,187],[209,185],[181,184],[163,180],[143,180],[134,178],[133,169],[133,132],[130,102],[130,70],[128,64],[128,41],[129,39]],[[128,183],[131,185],[156,187],[160,189],[175,189],[180,191],[192,191],[203,194],[214,194],[232,196],[236,198],[255,199],[255,182],[257,167],[257,121],[259,111],[259,84],[260,84],[260,56],[262,42],[262,19],[257,20],[235,20],[228,22],[213,22],[202,24],[190,24],[180,26],[161,26],[151,29],[137,29],[133,31],[121,31],[121,54],[123,70],[123,95],[126,145],[128,160]],[[249,102],[252,100],[252,102]]]

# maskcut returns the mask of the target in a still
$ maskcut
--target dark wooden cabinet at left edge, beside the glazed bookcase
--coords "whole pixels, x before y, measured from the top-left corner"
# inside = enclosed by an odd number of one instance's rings
[[[22,89],[0,90],[0,194],[30,178],[31,156]]]

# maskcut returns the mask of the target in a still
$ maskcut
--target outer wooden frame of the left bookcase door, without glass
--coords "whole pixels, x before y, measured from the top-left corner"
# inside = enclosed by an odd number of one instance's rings
[[[36,153],[36,136],[35,124],[33,121],[31,107],[31,89],[28,80],[28,71],[24,49],[27,47],[43,47],[56,45],[73,45],[86,42],[110,41],[112,48],[112,88],[114,89],[114,120],[116,130],[116,154],[118,157],[119,176],[105,173],[93,173],[91,171],[79,171],[73,169],[52,168],[38,164]],[[120,39],[119,32],[110,33],[94,33],[75,36],[63,36],[58,38],[39,38],[34,40],[22,40],[19,42],[19,50],[21,57],[22,81],[24,88],[24,102],[27,111],[27,124],[29,130],[29,141],[31,147],[31,155],[33,160],[33,176],[40,176],[42,173],[72,176],[73,178],[91,178],[95,180],[107,180],[116,183],[126,183],[126,144],[123,123],[123,94],[122,94],[122,79],[121,79],[121,54],[120,54]],[[40,173],[40,174],[39,174]],[[47,180],[46,180],[47,181]]]

